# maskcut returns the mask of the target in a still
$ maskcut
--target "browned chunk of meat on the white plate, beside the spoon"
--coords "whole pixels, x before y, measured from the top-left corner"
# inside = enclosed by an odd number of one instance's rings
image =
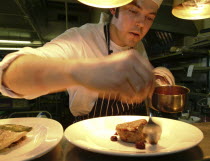
[[[125,122],[116,126],[116,131],[122,141],[125,142],[144,142],[145,135],[142,133],[144,125],[147,120],[140,119],[131,122]]]

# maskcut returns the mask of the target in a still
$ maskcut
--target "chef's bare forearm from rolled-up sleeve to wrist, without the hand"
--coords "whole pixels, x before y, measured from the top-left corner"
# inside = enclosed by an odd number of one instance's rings
[[[4,72],[3,84],[20,95],[47,94],[75,85],[67,60],[25,55]]]

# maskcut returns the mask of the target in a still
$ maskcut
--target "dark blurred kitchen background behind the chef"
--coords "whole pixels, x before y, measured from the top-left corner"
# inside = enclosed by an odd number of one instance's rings
[[[143,42],[154,66],[171,70],[176,84],[190,88],[186,111],[210,121],[210,19],[184,20],[172,15],[173,0],[163,0],[158,15]],[[2,0],[0,4],[0,59],[24,46],[39,47],[66,29],[85,23],[98,23],[98,9],[77,0]],[[71,122],[68,94],[49,94],[34,100],[0,96],[0,117],[50,113],[65,124]],[[19,113],[21,112],[21,113]],[[33,113],[34,112],[34,113]],[[65,126],[65,125],[64,125]]]

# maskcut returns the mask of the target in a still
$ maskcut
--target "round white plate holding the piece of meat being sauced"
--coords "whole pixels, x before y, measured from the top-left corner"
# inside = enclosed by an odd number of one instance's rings
[[[195,126],[166,118],[154,117],[162,127],[162,135],[157,145],[146,144],[141,150],[133,143],[118,139],[111,141],[115,127],[119,123],[146,119],[147,116],[110,116],[93,118],[70,125],[64,132],[72,144],[92,152],[120,156],[156,156],[175,153],[196,146],[203,139],[203,133]]]

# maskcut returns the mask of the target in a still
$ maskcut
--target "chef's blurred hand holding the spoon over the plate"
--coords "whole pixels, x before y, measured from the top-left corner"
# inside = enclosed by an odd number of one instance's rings
[[[78,84],[126,102],[142,102],[154,90],[153,67],[134,49],[85,60],[72,74]]]

